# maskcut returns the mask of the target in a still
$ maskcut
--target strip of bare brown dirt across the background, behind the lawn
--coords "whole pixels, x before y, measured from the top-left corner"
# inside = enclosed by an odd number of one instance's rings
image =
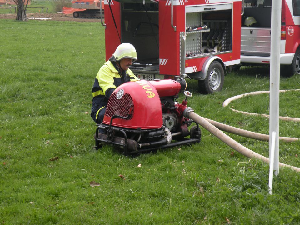
[[[74,18],[72,14],[63,13],[27,13],[27,18],[50,19],[55,21],[100,22],[100,19]],[[17,14],[0,14],[0,19],[16,19]]]

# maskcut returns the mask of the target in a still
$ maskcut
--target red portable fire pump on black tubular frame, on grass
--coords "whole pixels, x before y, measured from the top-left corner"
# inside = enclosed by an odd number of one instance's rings
[[[112,144],[125,155],[134,155],[200,142],[199,125],[196,123],[189,130],[194,121],[184,116],[192,110],[187,107],[192,93],[185,91],[183,102],[176,101],[186,85],[181,78],[120,85],[109,98],[103,123],[96,129],[95,148]]]

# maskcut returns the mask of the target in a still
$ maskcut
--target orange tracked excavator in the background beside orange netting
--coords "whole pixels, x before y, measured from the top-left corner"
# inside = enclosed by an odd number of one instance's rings
[[[102,4],[100,3],[102,2]],[[73,0],[72,8],[81,9],[73,12],[74,18],[100,18],[101,8],[104,13],[104,1],[98,0]],[[85,9],[85,10],[82,10]]]

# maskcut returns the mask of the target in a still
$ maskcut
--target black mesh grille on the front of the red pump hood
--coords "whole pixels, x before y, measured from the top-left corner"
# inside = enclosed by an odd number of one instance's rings
[[[117,98],[117,93],[113,93],[110,96],[105,110],[105,116],[112,117],[113,115],[118,115],[127,117],[128,114],[130,114],[127,120],[131,120],[133,113],[134,105],[130,94],[125,93],[120,99]]]

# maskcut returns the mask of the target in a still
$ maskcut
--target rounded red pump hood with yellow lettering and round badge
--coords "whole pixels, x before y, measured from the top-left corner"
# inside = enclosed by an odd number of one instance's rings
[[[145,80],[127,82],[120,85],[108,100],[103,119],[110,124],[113,115],[127,119],[114,118],[112,125],[132,129],[155,129],[163,126],[161,101],[154,86]]]

